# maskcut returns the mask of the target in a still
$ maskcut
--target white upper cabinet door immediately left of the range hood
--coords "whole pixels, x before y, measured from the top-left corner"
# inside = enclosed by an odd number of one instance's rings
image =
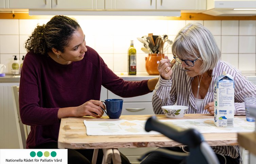
[[[157,0],[157,10],[203,10],[206,0]]]

